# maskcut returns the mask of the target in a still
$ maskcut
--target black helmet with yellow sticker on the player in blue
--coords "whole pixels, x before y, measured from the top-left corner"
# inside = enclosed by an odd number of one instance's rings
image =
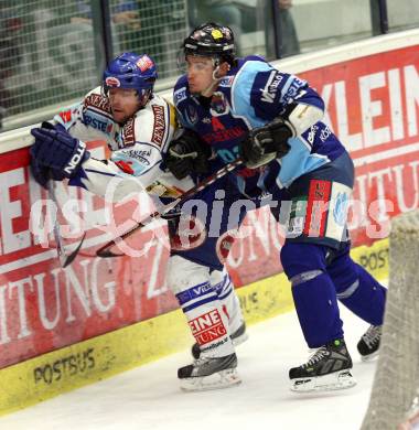
[[[233,64],[235,58],[234,34],[229,26],[207,22],[192,30],[182,44],[184,55],[202,55]]]

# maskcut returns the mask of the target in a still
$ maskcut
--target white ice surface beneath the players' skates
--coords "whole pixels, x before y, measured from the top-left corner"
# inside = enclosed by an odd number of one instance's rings
[[[376,362],[363,363],[356,343],[367,324],[344,309],[354,361],[353,388],[326,394],[290,391],[288,369],[308,358],[294,312],[248,329],[237,347],[239,386],[182,393],[176,369],[189,351],[126,372],[0,418],[1,430],[357,430],[368,405]]]

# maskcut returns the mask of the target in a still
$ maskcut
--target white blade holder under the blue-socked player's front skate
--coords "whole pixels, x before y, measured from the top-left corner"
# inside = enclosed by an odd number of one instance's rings
[[[296,378],[291,383],[291,391],[296,393],[332,391],[351,388],[356,385],[356,379],[352,376],[351,370],[345,369],[312,378]]]

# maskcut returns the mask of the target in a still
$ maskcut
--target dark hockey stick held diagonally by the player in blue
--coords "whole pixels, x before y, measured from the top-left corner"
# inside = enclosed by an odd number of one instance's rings
[[[174,200],[172,203],[168,204],[165,207],[164,207],[164,211],[162,212],[158,212],[155,211],[154,213],[152,213],[151,215],[149,215],[146,219],[143,219],[142,222],[140,223],[137,223],[136,226],[131,227],[130,229],[128,229],[127,232],[122,233],[120,236],[111,239],[110,241],[108,241],[107,244],[105,244],[101,248],[99,248],[97,251],[96,251],[96,255],[98,257],[103,257],[103,258],[109,258],[109,257],[121,257],[123,256],[125,254],[115,254],[110,250],[110,248],[114,246],[114,245],[118,245],[120,241],[122,241],[123,239],[126,239],[127,237],[131,236],[133,233],[136,233],[137,230],[139,230],[140,228],[147,226],[148,224],[150,224],[152,221],[154,219],[158,219],[160,218],[161,216],[165,215],[169,211],[171,211],[172,208],[176,207],[179,204],[182,204],[184,203],[187,198],[190,198],[191,196],[193,196],[194,194],[198,193],[200,191],[204,190],[206,186],[213,184],[215,181],[217,181],[218,179],[225,176],[227,173],[232,172],[233,170],[235,170],[236,168],[238,168],[240,164],[243,164],[243,159],[241,157],[237,158],[235,161],[232,161],[230,163],[226,164],[224,168],[219,169],[218,171],[216,171],[215,173],[213,173],[211,176],[204,179],[203,181],[201,181],[196,186],[194,186],[193,189],[191,190],[187,190],[186,192],[184,192],[181,196],[179,196],[176,200]]]

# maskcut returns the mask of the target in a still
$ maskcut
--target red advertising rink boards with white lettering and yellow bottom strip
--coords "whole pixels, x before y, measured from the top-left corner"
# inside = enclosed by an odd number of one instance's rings
[[[351,228],[354,246],[377,239],[367,233],[370,225],[385,227],[393,216],[418,206],[418,41],[417,32],[376,36],[277,64],[283,72],[301,73],[300,77],[318,88],[326,104],[326,122],[354,160],[353,200],[359,215],[359,225],[355,216]],[[128,257],[117,262],[80,255],[65,270],[57,266],[54,249],[40,249],[29,230],[31,205],[45,195],[29,174],[32,139],[29,128],[9,135],[0,139],[0,194],[6,202],[0,235],[0,415],[154,361],[193,342],[184,316],[172,311],[176,303],[163,283],[164,270],[158,270],[165,267],[168,256],[161,243],[141,265]],[[72,192],[86,203],[88,215],[100,218],[103,207],[97,197]],[[259,217],[258,235],[237,240],[229,255],[234,283],[247,286],[239,288],[238,294],[248,323],[292,309],[288,282],[283,275],[273,276],[280,271],[275,266],[279,258],[272,258],[280,240],[268,218]],[[380,238],[387,234],[382,232]],[[387,278],[386,240],[356,248],[354,257],[378,279]],[[149,270],[143,278],[139,278],[140,266]],[[265,280],[256,281],[260,278]],[[60,291],[67,294],[61,297],[61,308],[56,305]],[[174,384],[175,373],[173,368]]]

